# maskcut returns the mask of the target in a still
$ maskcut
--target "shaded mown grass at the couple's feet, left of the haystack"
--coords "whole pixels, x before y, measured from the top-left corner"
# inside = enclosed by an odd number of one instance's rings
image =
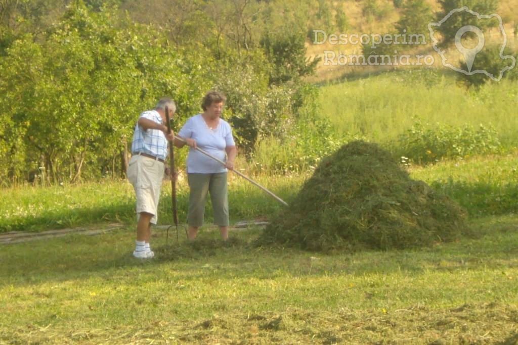
[[[190,267],[203,266],[204,261],[213,257],[224,258],[228,254],[246,252],[249,246],[241,236],[229,238],[227,242],[212,238],[212,234],[202,233],[202,236],[211,238],[198,238],[196,242],[189,243],[179,230],[180,242],[176,242],[173,231],[170,232],[169,245],[166,246],[166,231],[155,229],[151,240],[155,258],[147,260],[133,257],[133,227],[101,235],[71,234],[2,245],[0,287],[9,284],[23,286],[47,281],[81,280],[92,275],[109,277],[120,270],[148,272],[171,261],[188,262]],[[185,274],[190,275],[189,269]]]

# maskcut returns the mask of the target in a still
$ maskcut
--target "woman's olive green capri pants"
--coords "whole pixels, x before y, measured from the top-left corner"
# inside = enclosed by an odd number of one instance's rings
[[[205,213],[207,193],[210,193],[214,224],[228,226],[228,194],[227,173],[198,174],[188,173],[187,179],[191,193],[189,194],[189,212],[187,224],[190,227],[201,227]]]

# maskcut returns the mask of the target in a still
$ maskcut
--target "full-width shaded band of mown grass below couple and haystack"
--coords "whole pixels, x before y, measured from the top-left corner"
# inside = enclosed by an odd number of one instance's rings
[[[175,279],[272,279],[279,276],[365,275],[424,271],[457,271],[481,267],[518,266],[518,225],[513,216],[476,219],[477,238],[433,248],[394,251],[335,252],[322,254],[281,246],[257,247],[260,229],[232,231],[228,242],[217,231],[200,233],[194,243],[169,238],[156,231],[155,258],[132,257],[133,229],[100,236],[70,235],[33,243],[3,246],[0,251],[0,286],[30,286],[48,281],[112,279],[114,275],[147,274],[174,270]],[[182,234],[180,234],[182,235]],[[158,269],[158,271],[156,271]]]

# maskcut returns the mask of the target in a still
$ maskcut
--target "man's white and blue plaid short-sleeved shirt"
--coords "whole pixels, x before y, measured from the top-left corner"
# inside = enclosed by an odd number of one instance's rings
[[[138,117],[149,118],[151,121],[162,124],[162,117],[156,110],[145,111]],[[133,133],[133,142],[131,144],[132,154],[136,153],[147,153],[154,157],[161,159],[167,158],[167,139],[164,136],[164,132],[158,129],[144,130],[138,125],[135,126],[135,132]]]

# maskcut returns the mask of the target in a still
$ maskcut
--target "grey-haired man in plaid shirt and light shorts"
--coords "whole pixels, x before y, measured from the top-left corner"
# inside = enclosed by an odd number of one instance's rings
[[[174,139],[174,133],[167,131],[166,107],[172,118],[176,104],[170,98],[162,98],[154,110],[140,114],[133,134],[127,176],[137,196],[137,241],[133,256],[140,259],[154,257],[149,246],[151,224],[157,221],[167,144]]]

